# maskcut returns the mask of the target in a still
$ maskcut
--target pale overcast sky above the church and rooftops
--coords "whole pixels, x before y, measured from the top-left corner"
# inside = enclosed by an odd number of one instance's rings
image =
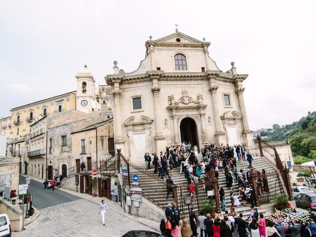
[[[87,64],[96,85],[145,57],[145,41],[175,32],[210,41],[226,72],[235,62],[252,130],[315,111],[315,0],[15,0],[0,8],[0,117],[76,90]]]

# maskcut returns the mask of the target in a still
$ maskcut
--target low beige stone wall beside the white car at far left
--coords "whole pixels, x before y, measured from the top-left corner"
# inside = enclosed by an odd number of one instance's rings
[[[12,231],[22,231],[23,212],[19,205],[12,205],[0,197],[0,214],[3,213],[8,215]]]

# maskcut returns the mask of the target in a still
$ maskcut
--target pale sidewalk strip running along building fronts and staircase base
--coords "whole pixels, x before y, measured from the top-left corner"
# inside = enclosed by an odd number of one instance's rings
[[[26,175],[23,175],[25,177],[27,177]],[[36,177],[32,177],[30,176],[31,179],[35,180],[35,181],[38,181],[38,182],[41,182],[43,183],[44,181],[39,179],[39,178],[36,178]],[[43,185],[44,187],[44,185]],[[118,202],[115,202],[115,201],[111,201],[109,199],[107,199],[106,197],[92,197],[88,194],[80,194],[79,192],[77,193],[76,191],[72,191],[72,190],[68,190],[68,189],[64,189],[64,188],[60,188],[60,190],[66,192],[66,193],[69,193],[71,195],[74,195],[74,196],[77,196],[77,197],[80,197],[84,200],[87,200],[87,201],[90,201],[90,202],[93,202],[93,203],[96,203],[96,204],[100,204],[101,203],[101,200],[104,199],[106,201],[106,203],[108,204],[109,208],[121,215],[124,215],[125,217],[133,220],[133,221],[136,221],[140,224],[143,224],[143,225],[146,225],[154,230],[156,230],[158,233],[160,233],[160,230],[159,230],[159,225],[160,223],[156,222],[156,221],[152,221],[152,220],[147,220],[145,218],[141,218],[141,217],[136,217],[136,216],[133,216],[133,215],[130,215],[126,212],[123,211],[123,208],[119,205]],[[40,212],[40,210],[37,210]]]

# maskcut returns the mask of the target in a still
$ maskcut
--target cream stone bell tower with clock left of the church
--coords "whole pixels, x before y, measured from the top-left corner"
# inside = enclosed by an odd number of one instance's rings
[[[100,111],[100,104],[96,100],[95,80],[88,71],[87,65],[75,76],[77,79],[76,108],[78,111],[91,114]]]

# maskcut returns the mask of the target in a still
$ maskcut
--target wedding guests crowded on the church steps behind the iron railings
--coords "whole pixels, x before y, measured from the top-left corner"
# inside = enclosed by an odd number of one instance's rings
[[[154,173],[158,173],[158,178],[163,179],[166,177],[167,184],[172,185],[172,175],[173,169],[180,167],[179,173],[184,173],[184,178],[187,180],[188,185],[190,185],[190,195],[193,198],[193,202],[196,199],[196,184],[203,183],[203,178],[205,173],[210,170],[215,171],[215,177],[219,177],[220,173],[225,175],[226,187],[230,189],[230,202],[232,207],[239,207],[241,205],[247,205],[250,203],[251,207],[254,207],[254,192],[252,183],[250,180],[250,168],[252,167],[253,158],[251,154],[246,153],[245,147],[235,144],[234,146],[227,145],[216,145],[214,143],[206,144],[200,150],[203,159],[198,160],[197,146],[192,146],[191,142],[183,142],[181,147],[174,146],[166,147],[164,153],[160,152],[160,155],[156,153],[150,155],[150,153],[145,153],[145,167],[146,169],[151,169],[151,161],[155,168]],[[236,154],[236,156],[235,156]],[[237,169],[238,162],[248,161],[248,169]],[[256,180],[257,190],[259,195],[263,192],[268,192],[268,182],[265,177],[266,171],[258,172],[258,178]],[[261,178],[263,177],[263,178]],[[234,186],[238,185],[238,191],[234,193]],[[225,191],[223,187],[218,187],[220,192],[220,203],[221,210],[226,210],[225,204]],[[167,189],[167,197],[169,193],[172,193],[171,188]],[[240,203],[239,198],[242,200]]]

